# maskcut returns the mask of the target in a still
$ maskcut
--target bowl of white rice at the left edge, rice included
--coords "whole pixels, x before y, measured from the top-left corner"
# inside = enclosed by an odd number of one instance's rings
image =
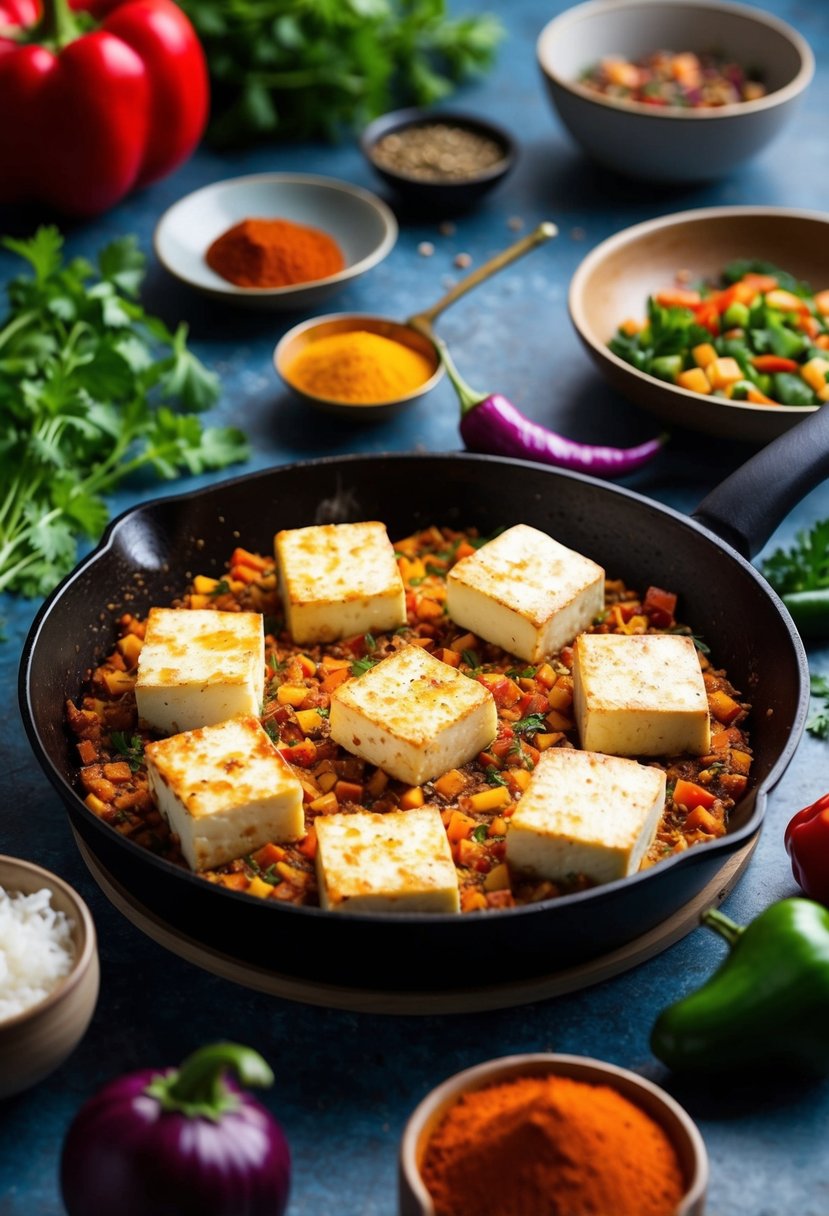
[[[36,1085],[78,1046],[98,983],[95,925],[78,893],[0,855],[0,1098]]]

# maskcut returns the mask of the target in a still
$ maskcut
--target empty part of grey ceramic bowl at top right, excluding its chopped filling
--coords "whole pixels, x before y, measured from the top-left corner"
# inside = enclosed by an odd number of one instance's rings
[[[580,84],[604,56],[712,49],[756,69],[766,95],[717,108],[616,101]],[[791,118],[814,74],[808,44],[758,9],[716,0],[590,0],[542,29],[536,54],[570,135],[599,164],[648,181],[706,181],[763,148]]]

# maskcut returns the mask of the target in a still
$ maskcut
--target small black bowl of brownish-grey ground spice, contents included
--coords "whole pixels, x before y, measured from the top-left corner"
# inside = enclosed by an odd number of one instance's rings
[[[518,158],[518,143],[503,126],[457,111],[383,114],[365,129],[360,146],[404,203],[441,214],[475,207]]]

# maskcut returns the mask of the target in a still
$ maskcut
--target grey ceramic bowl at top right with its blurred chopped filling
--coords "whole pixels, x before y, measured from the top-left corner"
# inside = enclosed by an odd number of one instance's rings
[[[547,92],[592,159],[648,181],[705,181],[755,156],[814,73],[769,13],[715,0],[590,0],[537,41]]]

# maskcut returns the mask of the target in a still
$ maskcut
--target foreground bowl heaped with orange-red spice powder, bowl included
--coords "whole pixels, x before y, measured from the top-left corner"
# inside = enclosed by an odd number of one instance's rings
[[[399,1216],[700,1216],[707,1172],[695,1124],[644,1077],[582,1055],[507,1055],[417,1107]]]

